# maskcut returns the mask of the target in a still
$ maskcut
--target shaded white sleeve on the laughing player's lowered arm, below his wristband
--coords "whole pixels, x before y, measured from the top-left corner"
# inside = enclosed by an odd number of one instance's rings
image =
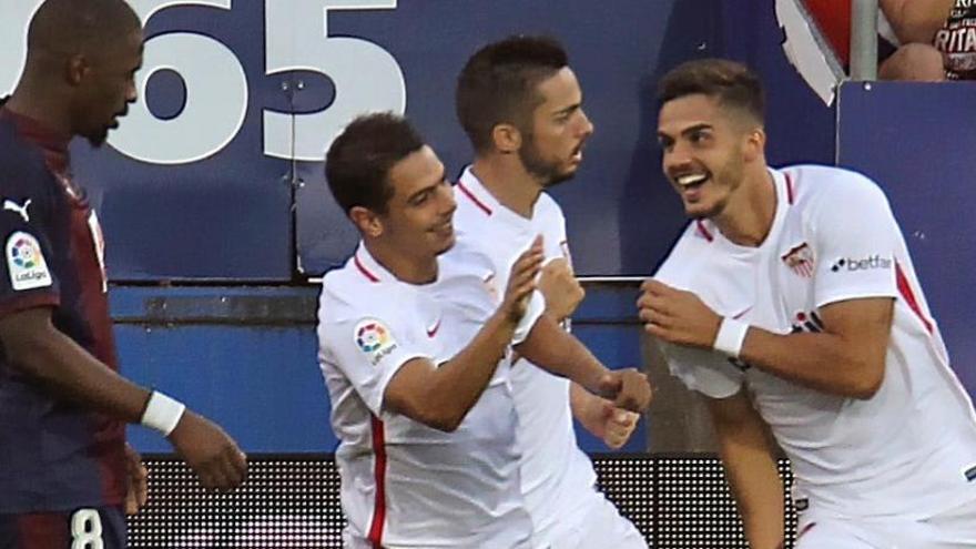
[[[671,374],[691,390],[728,398],[742,388],[745,375],[729,358],[711,350],[659,342]]]

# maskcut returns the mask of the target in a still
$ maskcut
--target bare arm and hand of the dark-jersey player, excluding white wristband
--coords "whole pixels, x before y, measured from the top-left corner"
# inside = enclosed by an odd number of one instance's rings
[[[58,331],[50,308],[30,308],[0,319],[0,343],[10,364],[42,389],[128,423],[140,421],[150,392]],[[230,490],[244,480],[244,454],[223,429],[190,409],[169,439],[205,488]],[[139,472],[134,475],[138,481]]]

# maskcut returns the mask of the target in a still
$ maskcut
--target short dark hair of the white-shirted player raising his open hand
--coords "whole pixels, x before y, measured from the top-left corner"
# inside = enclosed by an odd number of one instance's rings
[[[355,206],[385,214],[394,194],[389,171],[424,144],[400,115],[380,112],[357,118],[325,155],[325,179],[332,195],[346,214]]]

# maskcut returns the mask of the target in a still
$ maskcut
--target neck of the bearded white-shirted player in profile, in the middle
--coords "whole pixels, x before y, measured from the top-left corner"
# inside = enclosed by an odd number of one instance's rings
[[[532,218],[532,209],[545,183],[530,174],[518,153],[492,153],[475,159],[471,172],[502,206]]]

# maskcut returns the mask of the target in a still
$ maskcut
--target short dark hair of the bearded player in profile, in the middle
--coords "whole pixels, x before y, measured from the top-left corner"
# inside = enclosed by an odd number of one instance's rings
[[[566,50],[549,37],[509,37],[471,55],[458,75],[455,109],[475,151],[491,148],[498,124],[525,130],[542,101],[538,84],[568,64]]]

